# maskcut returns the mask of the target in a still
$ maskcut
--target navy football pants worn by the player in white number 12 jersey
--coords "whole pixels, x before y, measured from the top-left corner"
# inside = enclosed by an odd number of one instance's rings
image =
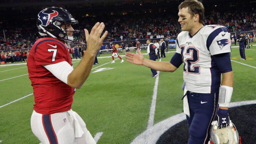
[[[187,92],[190,117],[188,144],[207,144],[211,123],[218,107],[218,93],[200,94]]]

